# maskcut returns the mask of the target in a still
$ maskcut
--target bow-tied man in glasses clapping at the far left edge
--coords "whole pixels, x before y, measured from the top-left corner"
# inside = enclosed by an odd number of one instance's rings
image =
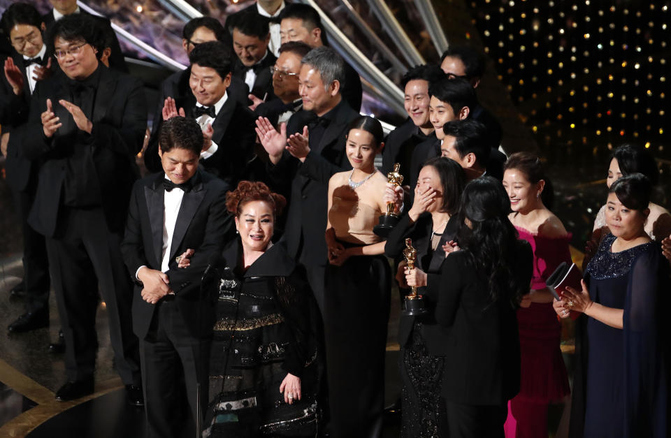
[[[49,263],[44,236],[27,223],[35,196],[36,165],[23,155],[18,126],[27,122],[30,96],[38,80],[47,78],[50,60],[42,39],[42,17],[27,3],[14,3],[2,15],[2,29],[13,46],[4,59],[0,81],[0,124],[7,144],[6,177],[12,190],[23,231],[24,279],[11,295],[25,295],[26,312],[9,324],[11,333],[20,333],[49,324]]]

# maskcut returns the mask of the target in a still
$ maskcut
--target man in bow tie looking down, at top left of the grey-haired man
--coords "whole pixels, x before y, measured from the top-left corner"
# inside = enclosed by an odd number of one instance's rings
[[[262,101],[273,98],[273,75],[270,67],[277,58],[268,50],[268,20],[257,13],[240,14],[232,25],[233,50],[238,55],[233,64],[233,77],[243,80]]]

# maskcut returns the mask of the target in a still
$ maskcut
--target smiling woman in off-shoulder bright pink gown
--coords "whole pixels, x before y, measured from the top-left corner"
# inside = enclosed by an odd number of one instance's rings
[[[561,262],[571,262],[571,238],[548,207],[552,190],[540,160],[526,152],[506,161],[503,187],[510,198],[510,221],[519,238],[533,249],[531,293],[517,311],[521,351],[521,383],[510,400],[505,423],[506,438],[547,437],[547,408],[569,394],[568,377],[561,357],[561,324],[552,307],[553,295],[545,280]]]

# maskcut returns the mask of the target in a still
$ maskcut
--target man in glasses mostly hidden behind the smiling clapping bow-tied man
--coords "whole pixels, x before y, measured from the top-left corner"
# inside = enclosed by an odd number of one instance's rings
[[[182,29],[182,48],[187,52],[187,55],[196,48],[196,45],[208,43],[208,41],[221,41],[222,43],[231,45],[231,36],[226,33],[226,30],[216,18],[194,18],[189,20],[189,22],[185,24],[184,29]],[[157,132],[159,130],[161,119],[163,118],[162,113],[166,98],[172,97],[179,100],[191,94],[191,88],[189,87],[190,76],[191,67],[189,66],[184,70],[175,71],[175,73],[161,82],[159,99],[157,101],[156,110],[154,111],[152,136],[158,135]],[[230,98],[233,98],[243,105],[247,105],[249,102],[249,99],[247,98],[247,95],[250,94],[249,89],[247,89],[245,82],[238,78],[231,78],[231,86],[226,89],[226,93]],[[157,149],[154,149],[154,152],[157,152]],[[153,164],[152,169],[150,169],[152,172],[157,172],[160,167],[158,161],[155,160],[156,156],[157,155],[154,153],[150,157],[150,161],[152,161]]]

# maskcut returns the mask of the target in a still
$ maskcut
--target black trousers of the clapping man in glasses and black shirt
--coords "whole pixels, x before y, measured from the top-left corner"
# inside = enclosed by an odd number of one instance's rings
[[[62,210],[59,233],[47,238],[47,251],[67,346],[67,377],[93,377],[100,290],[117,372],[124,384],[139,386],[140,353],[131,322],[132,287],[119,247],[121,235],[109,231],[100,208]]]

